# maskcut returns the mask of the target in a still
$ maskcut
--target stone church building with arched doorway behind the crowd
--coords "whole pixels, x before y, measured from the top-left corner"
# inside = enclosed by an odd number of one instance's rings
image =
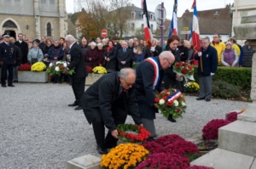
[[[65,0],[0,0],[0,34],[59,39],[67,30]]]

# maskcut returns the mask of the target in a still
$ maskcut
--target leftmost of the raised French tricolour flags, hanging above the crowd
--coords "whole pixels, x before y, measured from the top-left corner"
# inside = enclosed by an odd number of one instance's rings
[[[145,41],[148,42],[148,48],[151,48],[151,42],[153,40],[153,35],[150,30],[149,21],[148,21],[148,9],[146,0],[143,0],[143,25],[144,25],[144,37]]]

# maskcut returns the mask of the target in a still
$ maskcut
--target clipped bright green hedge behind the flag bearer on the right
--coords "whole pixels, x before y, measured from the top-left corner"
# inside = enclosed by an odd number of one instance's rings
[[[194,71],[195,82],[199,82],[197,66],[195,66]],[[237,87],[241,87],[242,89],[251,89],[252,68],[218,66],[218,70],[213,76],[213,81],[218,80],[228,82]]]

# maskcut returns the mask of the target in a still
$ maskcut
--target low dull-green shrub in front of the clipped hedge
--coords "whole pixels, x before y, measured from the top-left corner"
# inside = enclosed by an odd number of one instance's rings
[[[241,98],[239,89],[240,87],[236,87],[228,82],[221,80],[214,81],[212,84],[212,96],[222,99]]]

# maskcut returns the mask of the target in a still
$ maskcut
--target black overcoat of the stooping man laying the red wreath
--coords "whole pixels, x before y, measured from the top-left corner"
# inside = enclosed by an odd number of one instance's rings
[[[126,92],[122,92],[120,96],[118,74],[119,72],[113,72],[102,76],[84,92],[81,99],[87,121],[91,124],[96,116],[100,114],[102,115],[104,125],[110,131],[116,129],[112,116],[112,109],[116,104],[123,104],[124,109],[127,110],[126,112],[129,112],[133,121],[137,125],[142,124],[135,99],[134,87],[131,87]]]

